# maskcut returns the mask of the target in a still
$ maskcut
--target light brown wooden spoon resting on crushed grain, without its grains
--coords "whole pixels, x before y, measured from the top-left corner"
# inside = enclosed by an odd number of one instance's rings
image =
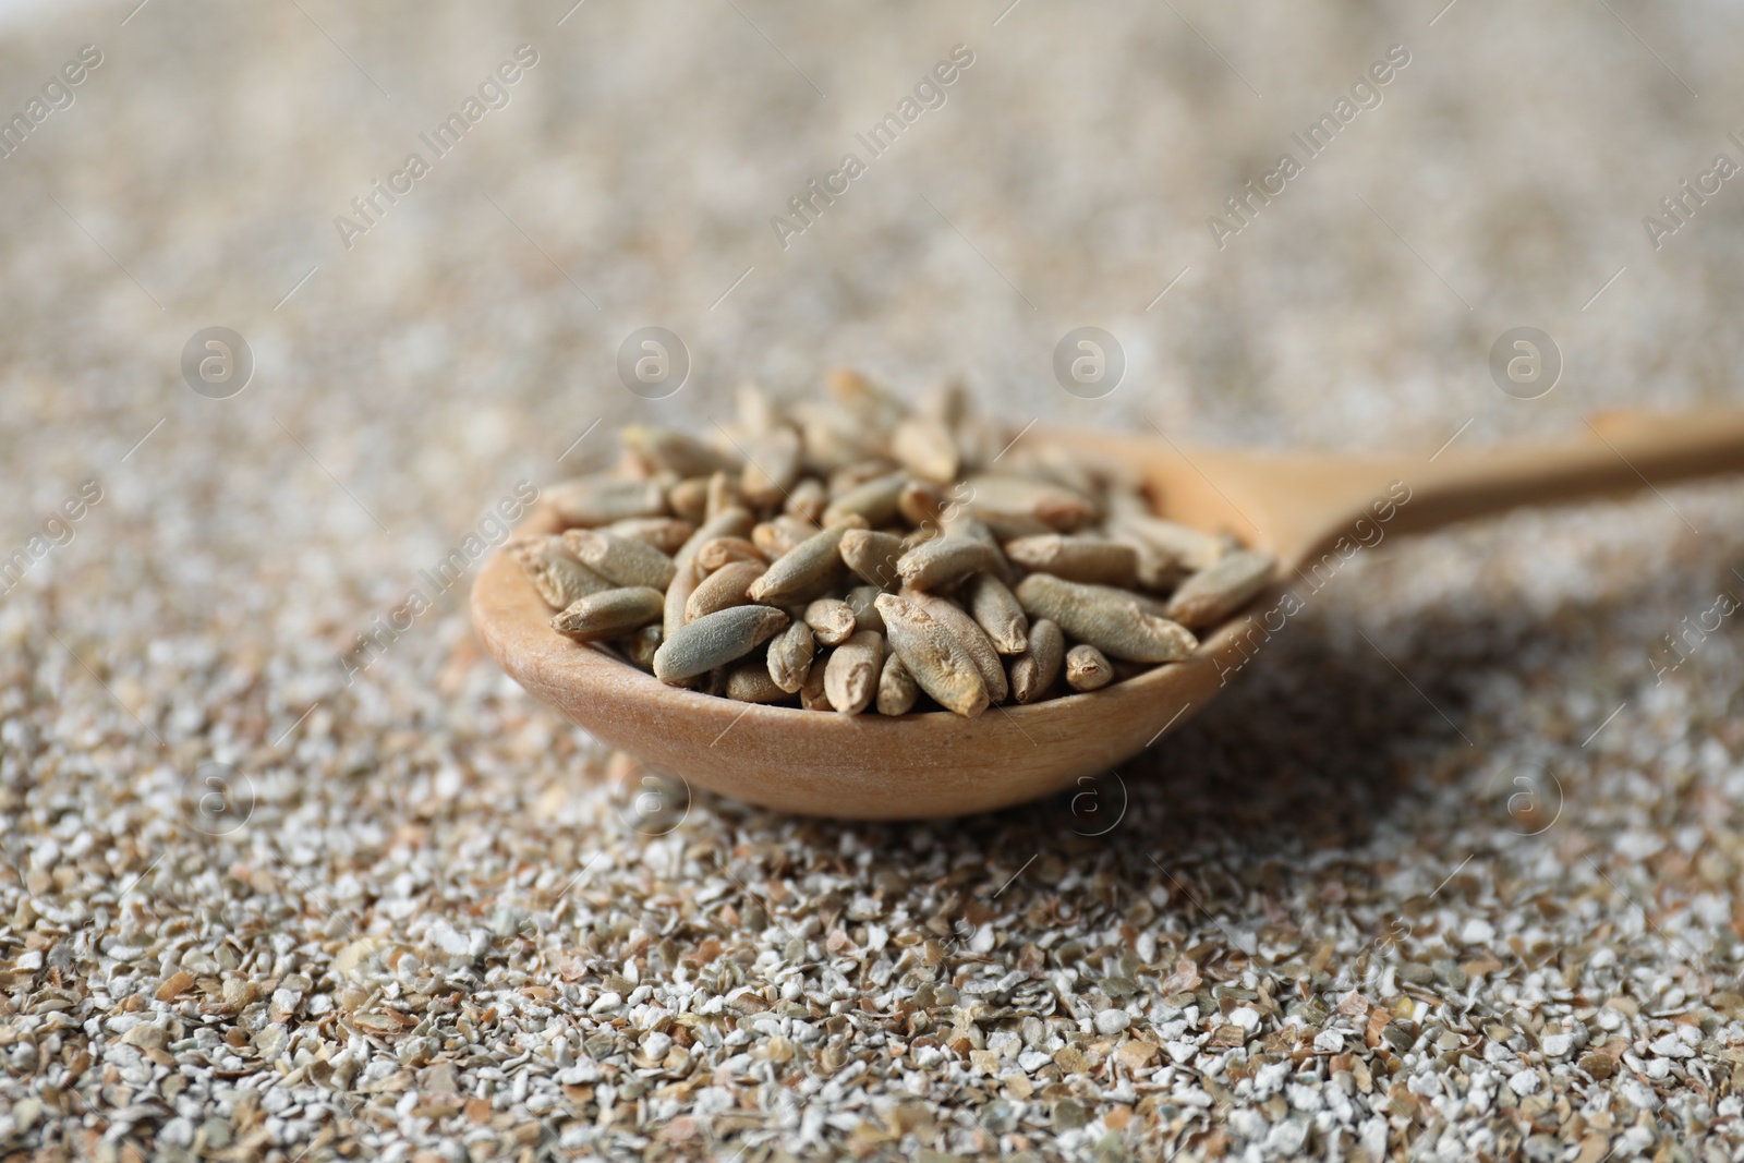
[[[1162,516],[1231,530],[1270,549],[1278,554],[1280,581],[1186,663],[1093,694],[989,708],[980,718],[944,711],[849,718],[668,687],[553,631],[551,610],[502,553],[492,554],[473,588],[473,624],[492,657],[534,697],[691,786],[844,820],[992,811],[1102,774],[1184,724],[1254,650],[1266,614],[1298,579],[1336,568],[1355,554],[1352,546],[1374,542],[1376,528],[1393,537],[1514,506],[1744,469],[1744,411],[1618,413],[1594,417],[1587,429],[1559,445],[1474,452],[1453,445],[1434,457],[1374,459],[1181,448],[1167,438],[1116,432],[1032,432],[1027,439],[1135,469],[1162,499]],[[1683,520],[1669,502],[1666,520]],[[541,507],[520,532],[556,528],[556,516]]]

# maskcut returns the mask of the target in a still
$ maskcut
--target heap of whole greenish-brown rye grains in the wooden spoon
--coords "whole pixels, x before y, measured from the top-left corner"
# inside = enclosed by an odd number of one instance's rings
[[[710,439],[628,427],[612,473],[546,490],[565,532],[509,551],[551,626],[727,699],[975,717],[1179,663],[1271,581],[1118,467],[1006,446],[957,389],[741,389]]]

